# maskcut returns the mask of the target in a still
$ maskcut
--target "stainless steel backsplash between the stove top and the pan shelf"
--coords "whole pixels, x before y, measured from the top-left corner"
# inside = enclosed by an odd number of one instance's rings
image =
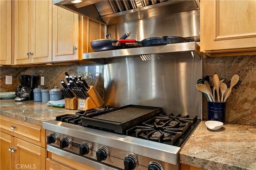
[[[202,60],[190,52],[143,61],[140,56],[114,58],[104,65],[105,105],[162,107],[166,113],[202,117]]]

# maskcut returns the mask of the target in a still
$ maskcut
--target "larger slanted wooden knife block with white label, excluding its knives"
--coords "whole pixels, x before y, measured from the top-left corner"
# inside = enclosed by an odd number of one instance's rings
[[[104,102],[102,98],[100,97],[100,94],[96,91],[94,86],[90,86],[90,90],[86,92],[90,97],[87,99],[80,99],[78,98],[78,110],[88,110],[95,107],[100,107],[104,105]]]

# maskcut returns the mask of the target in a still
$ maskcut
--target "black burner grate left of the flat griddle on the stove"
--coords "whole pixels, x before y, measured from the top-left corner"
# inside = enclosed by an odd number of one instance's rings
[[[116,107],[112,107],[112,106],[101,106],[98,108],[93,108],[93,109],[88,109],[85,111],[77,111],[75,115],[73,114],[65,114],[65,115],[60,115],[60,116],[56,116],[56,121],[62,121],[62,122],[66,122],[66,123],[72,123],[75,125],[81,125],[81,117],[85,116],[85,115],[91,115],[94,113],[99,113],[101,111],[106,111],[106,110],[110,110],[110,109],[114,109]]]

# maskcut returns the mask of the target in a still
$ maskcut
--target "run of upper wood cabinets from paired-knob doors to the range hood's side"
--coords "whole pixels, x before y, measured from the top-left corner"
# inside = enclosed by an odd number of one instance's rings
[[[79,61],[104,38],[106,25],[53,5],[52,0],[14,3],[14,64]]]

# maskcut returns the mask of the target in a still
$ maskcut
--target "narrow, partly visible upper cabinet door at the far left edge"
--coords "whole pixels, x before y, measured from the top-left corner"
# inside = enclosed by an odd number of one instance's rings
[[[12,64],[12,1],[0,0],[0,64]]]

